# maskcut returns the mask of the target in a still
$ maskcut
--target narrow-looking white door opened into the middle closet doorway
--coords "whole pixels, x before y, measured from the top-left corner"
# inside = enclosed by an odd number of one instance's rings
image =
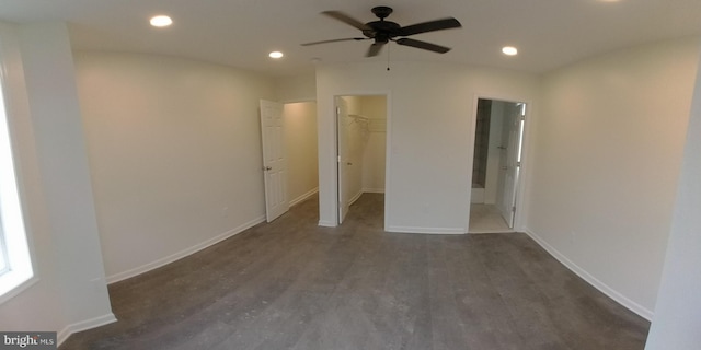
[[[338,140],[338,224],[341,224],[350,210],[350,160],[348,105],[343,97],[336,97],[336,125]]]

